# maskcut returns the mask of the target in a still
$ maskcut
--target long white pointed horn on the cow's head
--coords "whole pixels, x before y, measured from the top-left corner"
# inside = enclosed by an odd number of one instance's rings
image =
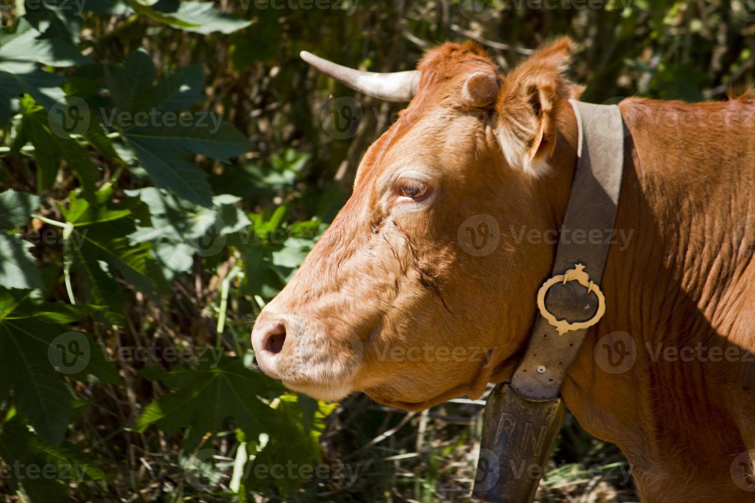
[[[420,82],[418,70],[393,73],[362,72],[323,60],[322,57],[307,51],[301,51],[300,56],[302,60],[341,84],[381,100],[410,101]]]

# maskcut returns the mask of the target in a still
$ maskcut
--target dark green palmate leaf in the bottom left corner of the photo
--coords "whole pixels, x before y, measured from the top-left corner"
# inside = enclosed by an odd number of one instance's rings
[[[23,489],[34,503],[59,503],[68,499],[66,488],[83,480],[103,480],[105,474],[71,443],[54,446],[29,431],[18,416],[0,425],[0,458],[5,462],[11,488]],[[38,477],[26,468],[39,469]],[[20,477],[19,477],[20,475]]]

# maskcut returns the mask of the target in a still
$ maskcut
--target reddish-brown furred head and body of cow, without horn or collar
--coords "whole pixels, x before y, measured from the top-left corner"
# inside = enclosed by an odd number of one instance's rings
[[[353,195],[257,319],[263,371],[325,400],[364,391],[405,409],[510,377],[577,163],[569,51],[556,41],[503,76],[473,44],[424,57]],[[630,135],[615,227],[630,239],[609,251],[606,314],[562,396],[621,447],[644,501],[753,501],[732,473],[755,448],[755,103],[620,109]],[[490,253],[463,246],[475,215],[493,220]],[[614,372],[601,355],[620,332],[633,351]]]

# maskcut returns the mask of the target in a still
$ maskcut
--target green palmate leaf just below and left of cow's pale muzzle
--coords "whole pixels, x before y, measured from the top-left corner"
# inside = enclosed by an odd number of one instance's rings
[[[186,449],[199,445],[208,432],[222,431],[230,418],[248,437],[277,431],[275,411],[257,394],[280,394],[284,388],[262,373],[247,369],[241,360],[221,357],[216,367],[208,357],[196,369],[145,376],[157,378],[175,391],[149,403],[134,425],[137,431],[153,423],[170,434],[189,427],[184,438]]]

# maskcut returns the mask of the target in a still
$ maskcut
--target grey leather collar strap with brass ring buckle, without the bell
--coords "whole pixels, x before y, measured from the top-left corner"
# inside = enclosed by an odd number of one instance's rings
[[[566,205],[553,277],[538,292],[538,317],[511,387],[523,397],[557,397],[589,328],[605,311],[599,290],[624,167],[626,127],[615,105],[569,100],[578,127],[578,164]],[[567,232],[563,232],[563,231]],[[586,238],[578,240],[576,232]],[[590,293],[588,293],[588,290]]]

